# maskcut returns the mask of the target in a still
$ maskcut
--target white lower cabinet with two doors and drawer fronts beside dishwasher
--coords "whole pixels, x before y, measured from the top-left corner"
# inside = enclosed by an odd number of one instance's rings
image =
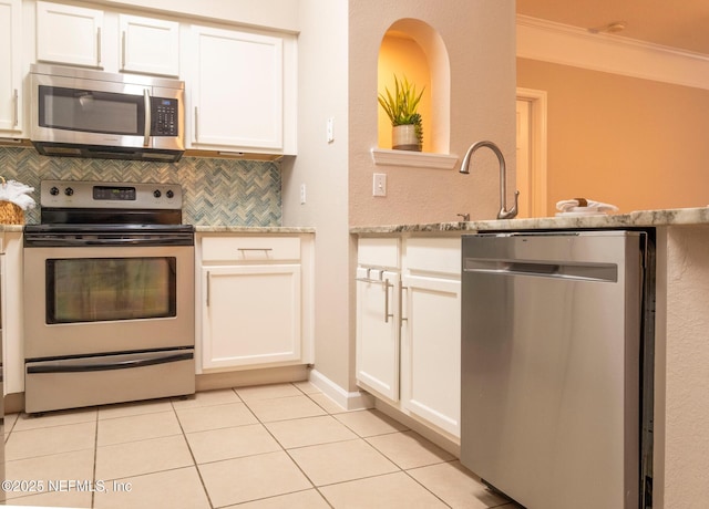
[[[358,384],[454,437],[460,437],[460,237],[361,238],[357,269]]]

